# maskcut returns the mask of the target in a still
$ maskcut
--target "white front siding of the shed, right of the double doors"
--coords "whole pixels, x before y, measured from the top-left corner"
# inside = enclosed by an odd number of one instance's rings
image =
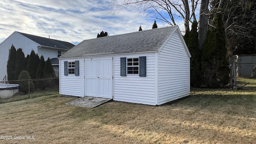
[[[138,58],[139,56],[146,56],[146,77],[140,77],[138,74],[127,74],[127,76],[120,76],[120,58]],[[156,105],[154,53],[114,56],[113,100]]]

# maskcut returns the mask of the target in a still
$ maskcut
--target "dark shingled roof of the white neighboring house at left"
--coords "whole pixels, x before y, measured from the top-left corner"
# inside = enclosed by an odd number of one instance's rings
[[[52,48],[58,48],[58,49],[64,49],[64,50],[70,50],[73,48],[75,45],[71,44],[70,42],[64,42],[60,40],[54,40],[51,38],[44,38],[41,36],[34,36],[31,34],[25,34],[22,32],[18,32],[19,34],[22,34],[23,36],[26,36],[30,40],[33,40],[34,42],[40,44],[41,46],[47,46],[47,47],[52,47]]]

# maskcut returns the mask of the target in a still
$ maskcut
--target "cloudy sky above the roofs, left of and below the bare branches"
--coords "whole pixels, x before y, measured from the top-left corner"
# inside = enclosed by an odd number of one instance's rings
[[[78,44],[109,35],[151,29],[154,18],[122,9],[113,15],[108,0],[0,0],[0,42],[14,31]],[[168,26],[157,20],[158,27]]]

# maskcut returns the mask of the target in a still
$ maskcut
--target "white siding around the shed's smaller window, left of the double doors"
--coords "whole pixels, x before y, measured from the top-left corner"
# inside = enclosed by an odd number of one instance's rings
[[[79,60],[79,76],[68,74],[64,76],[64,61]],[[60,94],[69,96],[84,96],[84,58],[60,60]]]

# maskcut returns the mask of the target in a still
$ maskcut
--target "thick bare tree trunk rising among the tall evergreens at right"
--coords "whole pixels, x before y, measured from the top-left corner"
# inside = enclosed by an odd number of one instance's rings
[[[209,0],[201,0],[200,13],[199,13],[199,22],[198,22],[198,39],[199,39],[199,48],[202,50],[204,45],[204,40],[206,38],[206,32],[208,28],[208,18],[209,16]]]

